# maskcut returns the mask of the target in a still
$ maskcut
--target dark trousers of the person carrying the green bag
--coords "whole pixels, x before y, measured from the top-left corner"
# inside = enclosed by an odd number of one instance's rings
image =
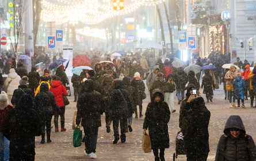
[[[85,132],[85,151],[87,154],[96,152],[98,129],[98,127],[83,127],[83,131]]]

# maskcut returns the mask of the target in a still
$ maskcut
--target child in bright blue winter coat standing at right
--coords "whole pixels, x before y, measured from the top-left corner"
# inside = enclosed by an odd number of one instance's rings
[[[242,99],[242,108],[245,108],[245,106],[244,106],[244,92],[243,92],[244,88],[245,88],[245,85],[244,85],[244,81],[243,81],[240,73],[236,74],[236,78],[233,81],[233,86],[234,86],[234,89],[235,89],[236,97],[238,99],[238,108],[240,107],[240,99]]]

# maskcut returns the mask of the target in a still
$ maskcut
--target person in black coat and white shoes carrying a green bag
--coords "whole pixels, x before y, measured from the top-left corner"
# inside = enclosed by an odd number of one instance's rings
[[[101,127],[102,95],[94,90],[93,80],[87,79],[82,83],[81,95],[77,101],[77,120],[85,132],[85,154],[96,158],[95,150],[98,138],[98,127]]]

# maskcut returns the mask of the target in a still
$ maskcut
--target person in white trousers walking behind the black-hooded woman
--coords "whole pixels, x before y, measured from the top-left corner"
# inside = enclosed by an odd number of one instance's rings
[[[176,89],[175,83],[173,81],[173,74],[169,74],[166,78],[165,85],[165,102],[168,104],[169,108],[171,107],[171,112],[176,112],[174,107],[174,91]]]

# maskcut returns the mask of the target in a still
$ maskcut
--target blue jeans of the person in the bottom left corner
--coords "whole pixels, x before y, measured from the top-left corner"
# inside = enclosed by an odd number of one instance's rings
[[[0,133],[0,161],[9,160],[10,141]]]

